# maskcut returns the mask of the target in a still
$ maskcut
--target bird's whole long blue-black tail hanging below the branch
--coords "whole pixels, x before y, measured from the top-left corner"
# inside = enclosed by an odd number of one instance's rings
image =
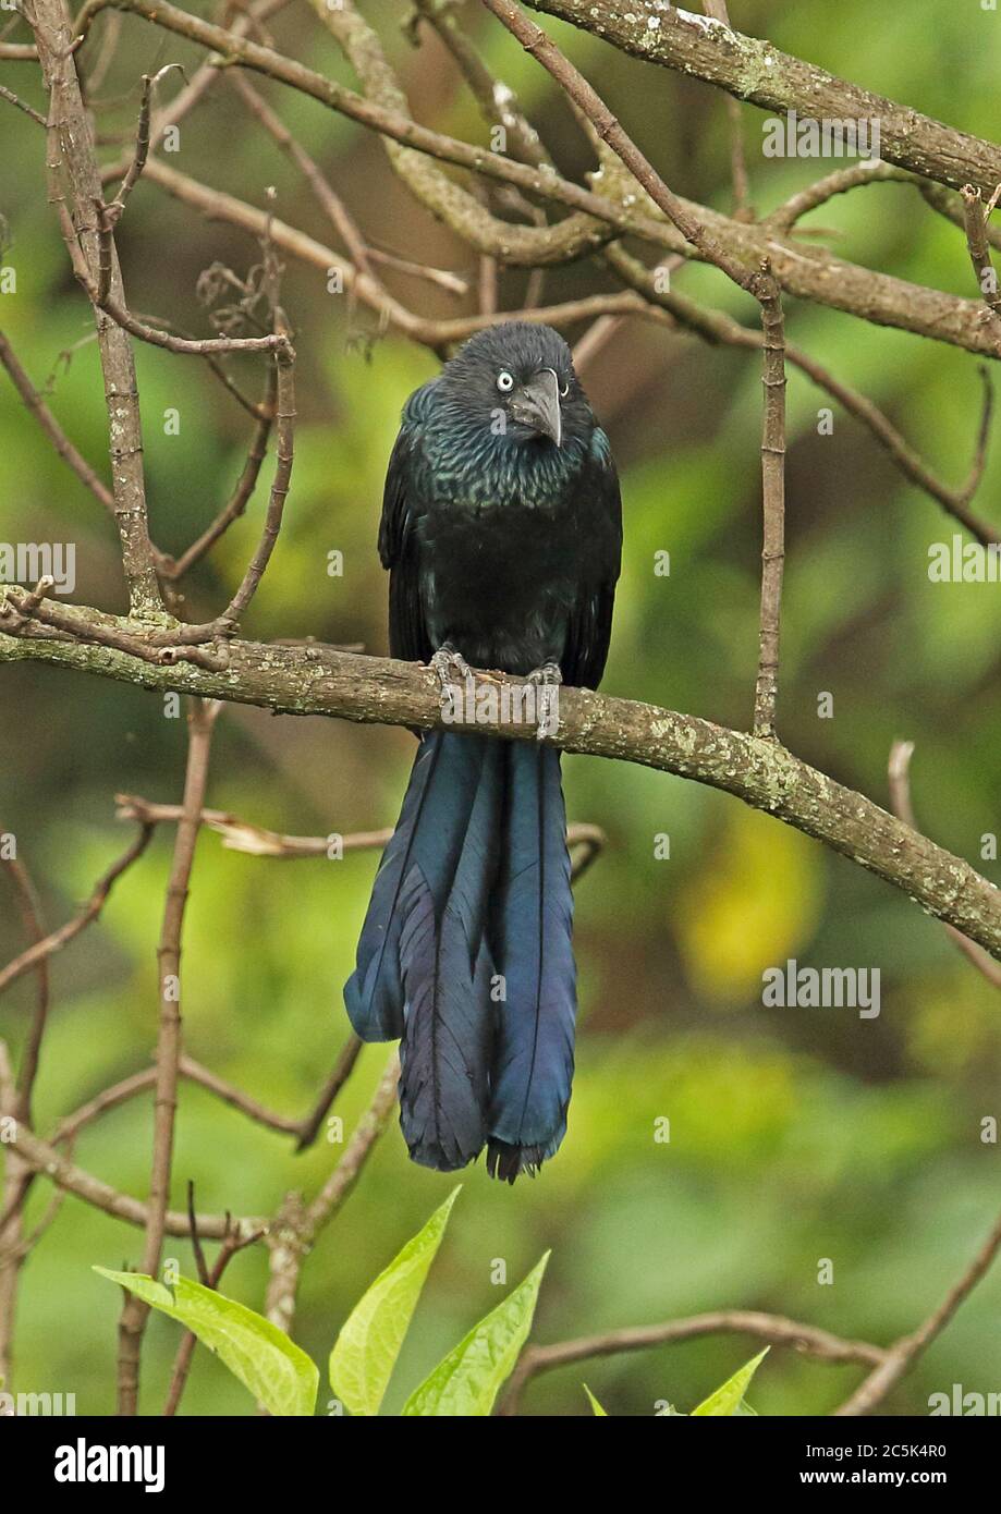
[[[410,1157],[488,1145],[513,1182],[557,1149],[574,1073],[572,895],[559,752],[421,739],[344,989],[362,1040],[400,1037]]]

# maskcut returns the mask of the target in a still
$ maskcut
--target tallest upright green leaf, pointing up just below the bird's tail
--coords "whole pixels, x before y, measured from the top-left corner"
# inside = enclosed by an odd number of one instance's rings
[[[330,1387],[351,1414],[379,1414],[459,1188],[354,1307],[330,1352]]]

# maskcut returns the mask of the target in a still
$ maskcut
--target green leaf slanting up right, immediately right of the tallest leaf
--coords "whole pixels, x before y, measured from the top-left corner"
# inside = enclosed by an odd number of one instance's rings
[[[482,1319],[465,1340],[438,1363],[403,1405],[404,1414],[474,1419],[494,1408],[494,1399],[532,1329],[532,1316],[550,1252],[503,1304]]]

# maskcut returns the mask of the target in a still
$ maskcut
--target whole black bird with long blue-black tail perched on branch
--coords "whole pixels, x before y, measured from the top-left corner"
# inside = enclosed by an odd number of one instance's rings
[[[598,686],[622,542],[609,439],[566,342],[477,333],[403,409],[383,495],[394,657],[447,684],[468,665]],[[344,998],[363,1040],[400,1037],[410,1157],[535,1172],[566,1131],[575,966],[560,754],[430,731]]]

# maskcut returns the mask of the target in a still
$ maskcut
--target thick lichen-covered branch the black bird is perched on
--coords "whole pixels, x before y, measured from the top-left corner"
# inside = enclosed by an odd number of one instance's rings
[[[8,589],[0,607],[23,600],[21,590]],[[59,607],[59,622],[64,630],[53,633],[30,616],[8,616],[17,634],[0,634],[0,663],[44,662],[144,689],[257,704],[288,715],[421,728],[442,724],[438,680],[413,663],[318,645],[239,639],[226,642],[220,656],[204,662],[161,662],[162,648],[153,645],[153,633],[141,622],[79,607]],[[65,630],[70,624],[73,633]],[[148,656],[132,650],[142,646],[144,637]],[[477,731],[536,739],[535,725],[501,721],[497,681],[477,687]],[[892,883],[928,914],[962,930],[1001,960],[1001,893],[992,883],[774,740],[583,689],[560,690],[559,728],[550,739],[569,752],[635,762],[733,793]]]

